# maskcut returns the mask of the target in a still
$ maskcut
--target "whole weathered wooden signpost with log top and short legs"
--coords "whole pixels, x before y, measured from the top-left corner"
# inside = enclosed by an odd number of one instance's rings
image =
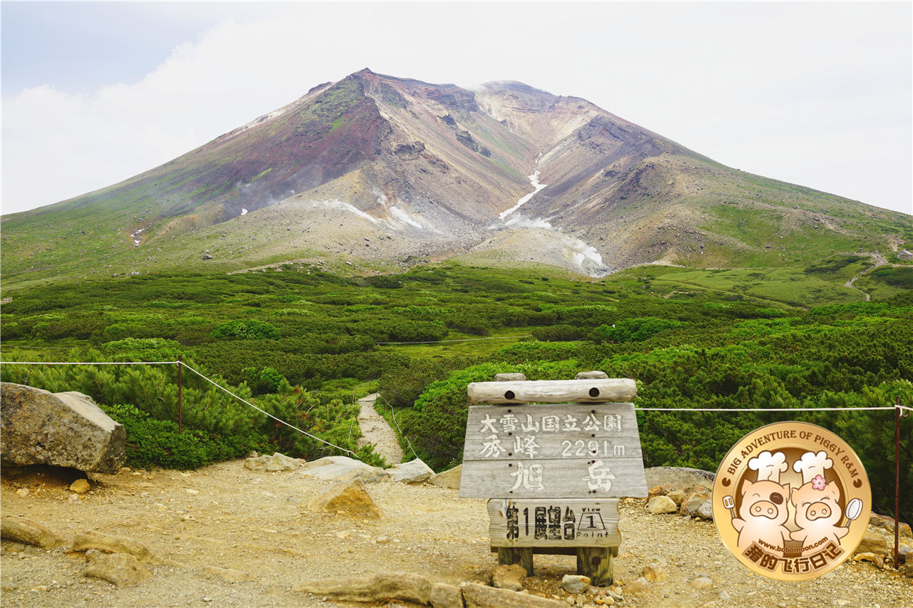
[[[629,403],[634,381],[586,372],[568,381],[471,383],[467,391],[470,404],[500,404],[469,407],[460,479],[461,497],[490,498],[498,561],[531,575],[534,553],[576,555],[578,573],[611,583],[618,498],[647,493]]]

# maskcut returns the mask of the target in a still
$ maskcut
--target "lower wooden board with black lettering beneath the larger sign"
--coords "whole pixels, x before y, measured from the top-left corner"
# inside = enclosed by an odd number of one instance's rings
[[[492,547],[617,547],[618,499],[488,500]]]

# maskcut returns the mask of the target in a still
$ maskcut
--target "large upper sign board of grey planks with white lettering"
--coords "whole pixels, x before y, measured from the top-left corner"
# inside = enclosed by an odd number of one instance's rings
[[[459,495],[645,497],[634,404],[469,408]]]

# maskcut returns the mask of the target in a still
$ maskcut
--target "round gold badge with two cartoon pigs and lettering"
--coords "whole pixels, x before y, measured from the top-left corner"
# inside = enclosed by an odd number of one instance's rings
[[[837,435],[808,423],[762,426],[723,458],[713,520],[730,551],[763,576],[804,581],[853,554],[868,526],[866,469]]]

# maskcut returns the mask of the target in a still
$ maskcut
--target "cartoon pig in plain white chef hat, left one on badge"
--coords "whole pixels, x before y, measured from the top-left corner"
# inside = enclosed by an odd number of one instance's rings
[[[751,458],[748,467],[758,471],[758,477],[753,483],[745,479],[741,484],[739,517],[732,519],[732,527],[739,531],[739,549],[744,551],[757,542],[782,557],[790,538],[790,530],[783,526],[789,517],[790,485],[780,484],[780,474],[788,467],[786,456],[764,451]]]

